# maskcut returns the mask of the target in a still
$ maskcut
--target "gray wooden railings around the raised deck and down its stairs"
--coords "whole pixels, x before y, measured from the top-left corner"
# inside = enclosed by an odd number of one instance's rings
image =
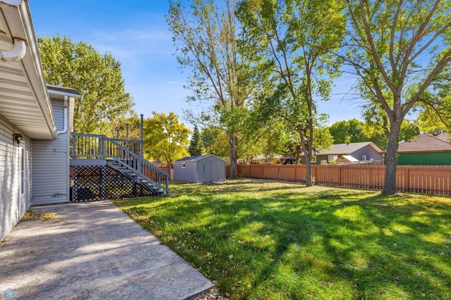
[[[168,194],[169,174],[140,156],[141,141],[110,139],[104,135],[72,133],[70,156],[77,159],[116,159]],[[136,150],[133,151],[133,150]]]

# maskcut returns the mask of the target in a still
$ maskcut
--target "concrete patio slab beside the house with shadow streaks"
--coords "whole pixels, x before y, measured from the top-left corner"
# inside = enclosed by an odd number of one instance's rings
[[[192,299],[214,287],[110,201],[34,206],[0,244],[0,299]]]

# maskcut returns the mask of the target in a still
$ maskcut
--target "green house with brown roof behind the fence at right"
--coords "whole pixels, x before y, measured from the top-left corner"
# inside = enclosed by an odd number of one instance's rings
[[[410,142],[400,143],[398,165],[451,165],[451,144],[447,135],[422,133]]]

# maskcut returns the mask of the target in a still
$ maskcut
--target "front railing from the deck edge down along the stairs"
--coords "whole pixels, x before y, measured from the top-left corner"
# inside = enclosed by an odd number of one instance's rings
[[[161,185],[161,174],[164,175],[164,177],[166,178],[166,187],[164,187],[166,194],[168,194],[168,188],[169,188],[169,174],[165,171],[162,170],[161,168],[157,167],[156,165],[154,165],[153,163],[146,161],[144,158],[142,158],[141,156],[135,154],[135,152],[130,151],[129,149],[125,148],[124,146],[122,146],[121,144],[118,144],[117,142],[115,142],[113,139],[110,139],[109,137],[106,137],[104,135],[91,135],[91,134],[86,134],[86,133],[75,133],[72,132],[71,133],[73,136],[73,149],[72,149],[72,156],[73,157],[92,157],[92,158],[101,158],[101,159],[105,159],[105,158],[114,158],[117,161],[121,161],[123,163],[125,163],[125,165],[128,165],[129,168],[132,168],[132,170],[134,170],[137,174],[139,174],[140,176],[142,176],[144,179],[146,180],[150,180],[152,182],[154,182],[155,184],[159,185],[160,187],[163,187]],[[94,155],[94,154],[75,154],[76,152],[76,137],[96,137],[99,139],[99,145],[98,145],[98,153],[99,155]],[[114,146],[116,146],[118,149],[121,149],[123,152],[125,152],[126,154],[129,155],[129,157],[131,157],[132,159],[138,161],[139,163],[137,165],[133,165],[130,164],[130,159],[125,159],[126,156],[113,156],[113,155],[108,155],[105,154],[105,141],[110,142],[111,144],[113,144]],[[123,159],[121,159],[123,158]],[[142,166],[146,166],[147,168],[149,168],[150,170],[152,170],[154,173],[156,173],[159,176],[159,182],[155,182],[154,180],[152,180],[150,177],[148,177],[147,175],[144,175],[142,173]],[[139,168],[137,168],[139,167]]]

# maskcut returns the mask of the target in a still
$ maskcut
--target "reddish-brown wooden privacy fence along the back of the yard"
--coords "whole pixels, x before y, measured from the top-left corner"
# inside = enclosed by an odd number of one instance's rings
[[[228,175],[228,166],[226,174]],[[305,182],[305,165],[238,165],[238,174],[247,178]],[[382,189],[385,165],[312,165],[315,185]],[[398,165],[400,192],[451,195],[451,165]]]

